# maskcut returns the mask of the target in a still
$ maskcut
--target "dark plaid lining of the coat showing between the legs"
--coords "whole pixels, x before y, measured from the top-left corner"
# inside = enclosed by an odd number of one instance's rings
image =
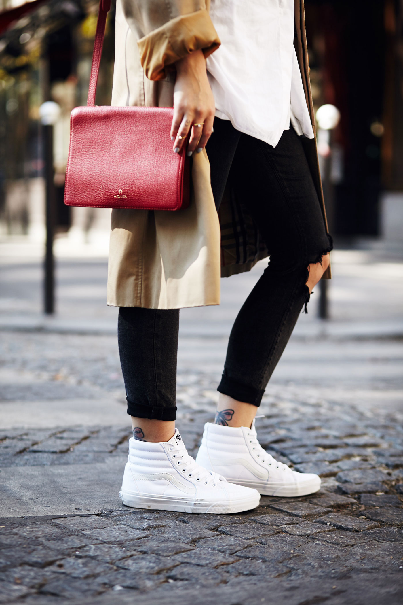
[[[268,256],[259,229],[229,186],[218,211],[221,226],[221,276],[249,271]]]

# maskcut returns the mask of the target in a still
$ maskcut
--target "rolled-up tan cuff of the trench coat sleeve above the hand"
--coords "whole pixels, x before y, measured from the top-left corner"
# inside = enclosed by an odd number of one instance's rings
[[[150,80],[163,80],[187,54],[202,50],[208,57],[220,44],[206,8],[178,15],[137,41],[141,65]]]

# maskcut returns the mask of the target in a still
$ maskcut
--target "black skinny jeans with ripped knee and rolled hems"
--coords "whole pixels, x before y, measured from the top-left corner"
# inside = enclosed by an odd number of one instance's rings
[[[237,401],[259,406],[309,300],[308,266],[330,252],[332,241],[292,128],[273,148],[216,118],[207,155],[217,208],[231,172],[270,253],[268,267],[234,322],[218,387]],[[179,309],[120,308],[118,344],[131,416],[175,420],[178,329]]]

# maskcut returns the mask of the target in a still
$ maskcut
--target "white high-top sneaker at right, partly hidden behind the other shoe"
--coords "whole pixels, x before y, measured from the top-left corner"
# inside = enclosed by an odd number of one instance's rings
[[[320,477],[297,473],[263,450],[251,428],[206,422],[196,462],[227,481],[255,488],[260,494],[298,496],[320,489]]]

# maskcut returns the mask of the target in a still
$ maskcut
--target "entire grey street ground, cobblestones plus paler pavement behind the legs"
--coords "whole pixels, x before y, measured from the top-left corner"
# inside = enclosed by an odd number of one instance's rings
[[[339,251],[333,269],[328,334],[338,321],[384,323],[321,336],[312,297],[257,419],[266,450],[319,473],[321,491],[190,515],[118,500],[129,430],[106,263],[58,263],[55,321],[76,333],[0,335],[0,603],[403,603],[403,341],[393,325],[394,339],[368,336],[402,319],[402,258]],[[39,255],[1,270],[1,325],[28,330],[40,319]],[[213,418],[231,322],[261,270],[223,280],[221,307],[181,314],[178,427],[192,454]],[[80,335],[86,322],[109,332]]]

